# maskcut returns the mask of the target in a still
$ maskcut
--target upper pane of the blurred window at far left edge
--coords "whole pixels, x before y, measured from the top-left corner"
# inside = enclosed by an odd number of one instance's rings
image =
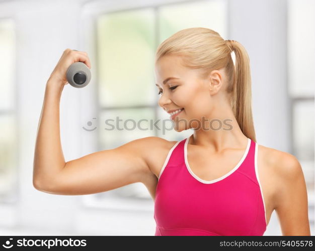
[[[0,21],[0,110],[14,105],[15,31],[12,20]]]

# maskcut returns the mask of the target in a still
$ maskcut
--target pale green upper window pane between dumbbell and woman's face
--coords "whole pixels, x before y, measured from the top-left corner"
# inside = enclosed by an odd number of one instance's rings
[[[155,103],[153,9],[104,15],[97,32],[100,105]]]

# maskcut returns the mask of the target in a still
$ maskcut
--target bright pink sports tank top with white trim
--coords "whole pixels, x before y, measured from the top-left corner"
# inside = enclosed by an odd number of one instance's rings
[[[239,163],[222,177],[206,181],[189,167],[188,141],[173,146],[159,175],[155,235],[263,235],[267,220],[258,145],[248,139]]]

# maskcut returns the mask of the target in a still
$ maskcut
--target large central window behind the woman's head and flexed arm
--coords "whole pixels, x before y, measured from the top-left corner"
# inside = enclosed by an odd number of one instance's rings
[[[184,17],[189,16],[189,19]],[[111,126],[98,131],[99,150],[112,149],[138,138],[157,136],[179,141],[192,134],[171,130],[169,115],[159,106],[154,85],[154,53],[165,39],[190,27],[211,27],[227,35],[225,1],[191,1],[172,5],[124,10],[103,14],[97,19],[98,106],[103,123]],[[118,119],[120,128],[116,127]],[[140,119],[141,130],[135,127]],[[157,128],[153,127],[156,120]],[[163,130],[165,121],[165,130]],[[151,122],[152,123],[152,122]],[[132,129],[135,128],[135,129]],[[104,130],[106,129],[106,130]],[[105,193],[104,197],[131,197],[151,200],[142,183],[134,183]]]

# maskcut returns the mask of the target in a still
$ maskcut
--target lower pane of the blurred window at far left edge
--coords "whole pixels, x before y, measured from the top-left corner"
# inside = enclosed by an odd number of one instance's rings
[[[16,199],[17,145],[14,115],[0,116],[0,200]]]

